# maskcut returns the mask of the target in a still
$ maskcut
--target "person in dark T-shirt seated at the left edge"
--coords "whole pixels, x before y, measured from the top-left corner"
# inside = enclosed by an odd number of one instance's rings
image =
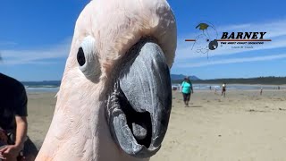
[[[0,72],[0,159],[37,157],[38,149],[27,136],[27,102],[21,82]]]

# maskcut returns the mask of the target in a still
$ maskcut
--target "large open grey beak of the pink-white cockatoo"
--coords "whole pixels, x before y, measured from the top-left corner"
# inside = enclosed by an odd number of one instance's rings
[[[151,157],[161,147],[172,108],[169,67],[150,38],[130,48],[114,80],[106,116],[118,145],[133,157]]]

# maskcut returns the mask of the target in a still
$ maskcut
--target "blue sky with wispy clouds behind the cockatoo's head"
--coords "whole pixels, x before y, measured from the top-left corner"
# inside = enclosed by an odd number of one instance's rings
[[[18,80],[61,80],[75,21],[88,0],[1,1],[0,72]],[[286,2],[168,1],[176,16],[178,47],[172,73],[201,79],[286,76]],[[206,54],[192,49],[209,21],[223,31],[266,31],[272,42],[252,49],[218,47]],[[211,32],[211,31],[210,31]]]

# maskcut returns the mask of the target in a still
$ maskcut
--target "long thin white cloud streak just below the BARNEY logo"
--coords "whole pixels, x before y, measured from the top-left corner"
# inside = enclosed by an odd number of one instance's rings
[[[243,58],[232,58],[232,59],[223,59],[220,61],[209,61],[209,62],[200,62],[200,63],[189,63],[189,64],[179,64],[178,67],[200,67],[206,65],[214,65],[214,64],[237,64],[237,63],[245,63],[245,62],[257,62],[257,61],[267,61],[274,59],[282,59],[286,58],[286,54],[282,55],[266,55],[266,56],[256,56],[256,57],[243,57]]]

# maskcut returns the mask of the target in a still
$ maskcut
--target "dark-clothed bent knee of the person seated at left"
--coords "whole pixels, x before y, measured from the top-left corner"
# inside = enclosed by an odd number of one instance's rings
[[[31,140],[26,140],[23,149],[23,158],[21,161],[34,161],[38,155],[38,149]]]

